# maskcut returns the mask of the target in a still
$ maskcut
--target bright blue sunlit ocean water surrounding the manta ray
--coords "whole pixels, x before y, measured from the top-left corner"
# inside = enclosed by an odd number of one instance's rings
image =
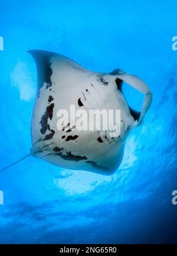
[[[153,103],[111,176],[29,156],[0,173],[0,243],[176,243],[176,1],[1,1],[0,169],[31,148],[35,63],[50,50],[100,72],[142,78]],[[132,107],[140,98],[124,87]],[[110,163],[111,164],[111,163]]]

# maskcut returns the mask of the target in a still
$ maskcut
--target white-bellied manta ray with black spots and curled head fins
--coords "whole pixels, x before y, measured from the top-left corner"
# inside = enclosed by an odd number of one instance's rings
[[[148,85],[120,69],[94,72],[58,53],[28,52],[37,67],[30,155],[61,168],[113,174],[122,162],[127,136],[142,124],[152,103]],[[123,82],[145,95],[140,112],[127,103]],[[78,131],[70,123],[58,130],[57,111],[70,112],[70,105],[76,110],[120,110],[119,136],[112,137],[106,130]]]

